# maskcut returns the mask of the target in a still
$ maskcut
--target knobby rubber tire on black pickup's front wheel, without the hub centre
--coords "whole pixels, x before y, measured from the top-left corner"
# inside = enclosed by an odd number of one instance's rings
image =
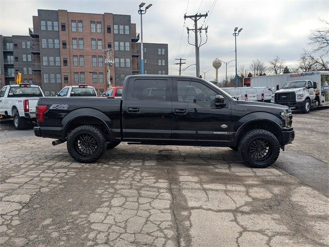
[[[256,161],[250,154],[250,144],[256,140],[265,140],[269,145],[269,155],[264,161]],[[239,143],[239,150],[246,165],[252,168],[266,168],[276,162],[280,154],[280,143],[275,135],[263,129],[250,130],[244,134]]]

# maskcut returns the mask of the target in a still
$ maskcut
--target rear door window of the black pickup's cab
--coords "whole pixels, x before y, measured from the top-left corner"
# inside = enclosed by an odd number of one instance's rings
[[[166,101],[169,100],[166,91],[167,80],[135,80],[132,98],[137,100]]]

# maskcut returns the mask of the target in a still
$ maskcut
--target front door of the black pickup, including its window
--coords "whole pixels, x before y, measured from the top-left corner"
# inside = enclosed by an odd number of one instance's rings
[[[215,107],[215,96],[220,93],[203,81],[173,80],[173,130],[172,141],[205,144],[228,142],[231,108]]]

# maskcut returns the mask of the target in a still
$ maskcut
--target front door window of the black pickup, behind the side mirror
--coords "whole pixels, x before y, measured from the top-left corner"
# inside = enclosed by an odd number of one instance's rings
[[[216,92],[195,81],[177,81],[178,102],[195,103],[200,107],[215,107]]]

